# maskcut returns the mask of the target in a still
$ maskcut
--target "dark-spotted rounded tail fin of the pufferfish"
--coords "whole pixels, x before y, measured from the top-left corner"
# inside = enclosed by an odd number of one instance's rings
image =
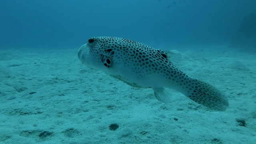
[[[228,108],[228,98],[220,90],[195,78],[187,82],[181,92],[191,100],[212,110],[225,111]]]

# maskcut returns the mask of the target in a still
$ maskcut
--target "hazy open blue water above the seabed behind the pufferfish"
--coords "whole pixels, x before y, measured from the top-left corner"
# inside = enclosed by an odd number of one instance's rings
[[[256,0],[0,0],[0,48],[74,48],[92,36],[153,47],[230,44],[255,7]]]

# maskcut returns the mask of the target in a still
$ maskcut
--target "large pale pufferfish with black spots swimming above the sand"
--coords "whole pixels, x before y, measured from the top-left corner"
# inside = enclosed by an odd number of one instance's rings
[[[169,103],[172,90],[212,110],[225,111],[228,98],[214,86],[192,78],[174,64],[180,54],[155,49],[140,42],[116,37],[92,37],[78,51],[89,68],[136,88],[152,88],[157,100]]]

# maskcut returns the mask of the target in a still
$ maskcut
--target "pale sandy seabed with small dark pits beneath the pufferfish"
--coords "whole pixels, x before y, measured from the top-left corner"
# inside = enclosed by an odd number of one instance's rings
[[[182,53],[180,70],[228,96],[216,112],[176,91],[159,102],[77,51],[0,51],[1,144],[255,144],[256,54]]]

